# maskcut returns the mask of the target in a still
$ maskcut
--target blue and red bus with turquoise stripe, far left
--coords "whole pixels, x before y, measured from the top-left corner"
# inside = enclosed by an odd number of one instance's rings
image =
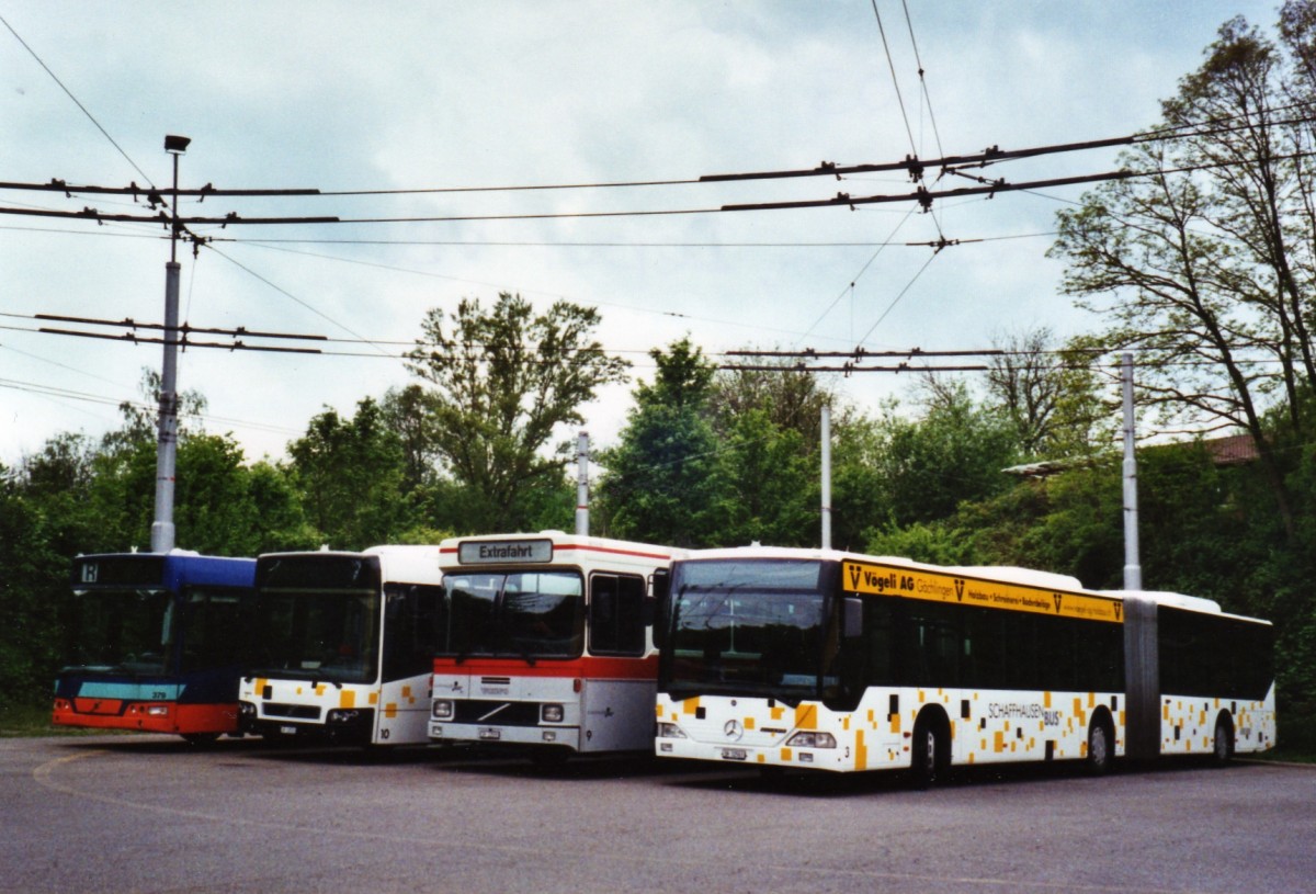
[[[236,735],[254,575],[254,560],[180,549],[75,558],[53,723],[193,743]]]

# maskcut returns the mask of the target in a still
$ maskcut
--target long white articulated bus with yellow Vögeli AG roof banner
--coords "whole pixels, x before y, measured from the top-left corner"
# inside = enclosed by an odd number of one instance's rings
[[[928,781],[1275,744],[1273,628],[1208,599],[751,546],[674,562],[658,623],[662,757]]]

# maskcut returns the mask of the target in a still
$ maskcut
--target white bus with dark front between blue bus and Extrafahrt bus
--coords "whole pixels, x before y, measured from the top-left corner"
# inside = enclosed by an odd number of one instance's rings
[[[271,741],[426,743],[437,546],[257,560],[243,729]]]

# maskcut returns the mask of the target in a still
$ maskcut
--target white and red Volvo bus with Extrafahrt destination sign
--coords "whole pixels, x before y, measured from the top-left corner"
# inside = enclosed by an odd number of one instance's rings
[[[653,748],[654,577],[680,550],[557,531],[441,549],[430,739],[538,761]]]

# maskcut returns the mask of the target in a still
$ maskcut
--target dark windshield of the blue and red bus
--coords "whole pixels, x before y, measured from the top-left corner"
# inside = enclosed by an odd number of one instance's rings
[[[66,670],[174,670],[174,600],[157,587],[74,590],[72,664]]]

